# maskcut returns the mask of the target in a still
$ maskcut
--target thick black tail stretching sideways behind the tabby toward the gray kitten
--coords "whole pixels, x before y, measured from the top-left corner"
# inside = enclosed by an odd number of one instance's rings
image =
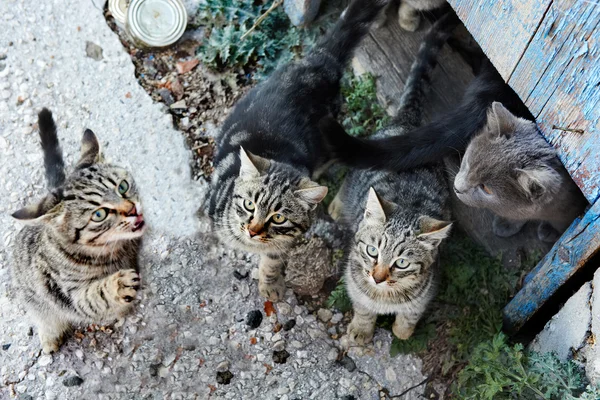
[[[485,127],[488,108],[494,101],[521,118],[533,120],[517,94],[485,60],[457,108],[402,136],[372,140],[352,137],[333,118],[323,118],[319,127],[338,161],[355,168],[407,170],[463,152]]]

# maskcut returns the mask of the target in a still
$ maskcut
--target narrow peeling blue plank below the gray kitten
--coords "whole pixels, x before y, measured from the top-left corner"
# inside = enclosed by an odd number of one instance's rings
[[[571,225],[504,308],[504,329],[518,331],[600,248],[600,202]]]

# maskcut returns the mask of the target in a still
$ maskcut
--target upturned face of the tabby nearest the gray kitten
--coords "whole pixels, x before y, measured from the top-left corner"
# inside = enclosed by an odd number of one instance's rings
[[[427,216],[407,219],[373,189],[349,254],[350,274],[372,298],[408,299],[426,282],[451,224]]]

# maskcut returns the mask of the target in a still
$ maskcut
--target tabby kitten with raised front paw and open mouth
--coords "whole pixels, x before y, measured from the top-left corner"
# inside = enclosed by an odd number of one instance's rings
[[[38,126],[49,193],[12,214],[26,224],[15,241],[12,276],[43,352],[52,353],[72,325],[116,319],[131,309],[140,288],[137,254],[145,223],[131,174],[98,162],[91,130],[66,176],[48,109],[38,114]]]

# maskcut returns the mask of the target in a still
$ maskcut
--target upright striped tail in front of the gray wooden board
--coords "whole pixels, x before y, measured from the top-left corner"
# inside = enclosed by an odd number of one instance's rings
[[[421,125],[425,94],[431,85],[431,74],[444,44],[458,26],[460,19],[453,12],[438,19],[421,43],[404,86],[400,107],[392,125],[414,129]]]

